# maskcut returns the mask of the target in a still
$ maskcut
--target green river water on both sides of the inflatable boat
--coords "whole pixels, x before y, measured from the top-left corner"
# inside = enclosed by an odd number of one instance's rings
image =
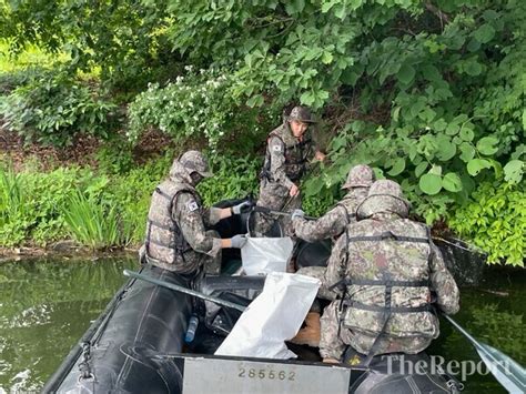
[[[38,392],[125,282],[122,270],[135,266],[134,256],[0,263],[0,393]],[[477,340],[522,365],[525,283],[525,270],[486,270],[479,286],[462,289],[455,316]],[[505,393],[461,334],[446,322],[441,331],[429,353],[436,363],[444,357],[451,371],[464,371],[465,393]]]

